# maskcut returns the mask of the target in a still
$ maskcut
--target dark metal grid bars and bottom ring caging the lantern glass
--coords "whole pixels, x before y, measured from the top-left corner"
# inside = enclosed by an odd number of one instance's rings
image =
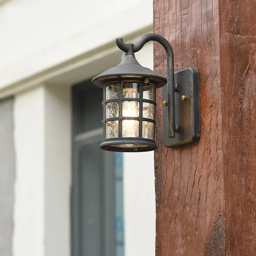
[[[143,121],[153,123],[153,138],[155,137],[155,125],[156,125],[156,88],[154,89],[154,100],[143,99],[143,84],[145,79],[122,79],[122,80],[106,80],[106,83],[103,86],[103,136],[104,139],[100,144],[100,148],[109,150],[109,151],[117,151],[117,152],[141,152],[141,151],[150,151],[155,150],[157,148],[155,140],[145,139],[142,138],[142,125]],[[131,82],[139,82],[140,84],[140,98],[122,98],[123,94],[123,83],[126,81]],[[118,98],[115,99],[108,99],[106,100],[106,87],[107,84],[110,82],[119,82],[119,92]],[[154,84],[153,81],[149,80],[149,83]],[[130,117],[130,116],[122,116],[122,102],[124,101],[138,101],[139,104],[139,116],[137,117]],[[106,104],[111,102],[118,102],[118,116],[106,118]],[[143,117],[143,102],[150,103],[154,105],[154,119],[145,118]],[[136,138],[133,137],[122,137],[122,121],[123,120],[137,120],[139,121],[139,136]],[[118,121],[118,137],[117,138],[108,138],[106,139],[106,123],[109,121]],[[135,145],[142,145],[145,147],[133,147],[133,148],[124,148],[124,147],[115,147],[112,145],[120,145],[120,144],[135,144]]]

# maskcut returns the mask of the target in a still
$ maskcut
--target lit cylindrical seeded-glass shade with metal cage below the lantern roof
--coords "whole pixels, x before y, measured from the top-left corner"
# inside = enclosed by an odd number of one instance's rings
[[[144,79],[116,80],[105,83],[103,90],[100,147],[123,152],[156,149],[156,85]]]

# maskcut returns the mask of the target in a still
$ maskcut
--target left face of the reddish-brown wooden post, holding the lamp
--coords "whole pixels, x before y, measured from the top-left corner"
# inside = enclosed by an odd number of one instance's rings
[[[210,253],[216,220],[225,212],[219,20],[219,0],[154,1],[154,32],[172,45],[175,71],[198,68],[201,100],[199,143],[165,148],[162,90],[157,90],[157,256]],[[155,71],[166,75],[165,52],[154,47]],[[217,255],[224,253],[220,248]]]

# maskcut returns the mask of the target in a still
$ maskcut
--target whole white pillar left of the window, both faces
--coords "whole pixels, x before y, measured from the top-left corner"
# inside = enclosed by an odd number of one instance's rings
[[[44,86],[14,100],[14,256],[70,256],[71,95]]]

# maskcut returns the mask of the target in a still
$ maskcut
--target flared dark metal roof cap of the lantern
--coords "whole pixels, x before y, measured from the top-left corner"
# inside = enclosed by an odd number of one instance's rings
[[[107,79],[122,78],[149,78],[156,84],[156,88],[162,87],[166,84],[167,79],[160,76],[150,68],[145,68],[136,60],[134,53],[126,53],[123,60],[113,68],[109,68],[98,76],[92,79],[92,83],[96,86],[102,87],[102,84]]]

